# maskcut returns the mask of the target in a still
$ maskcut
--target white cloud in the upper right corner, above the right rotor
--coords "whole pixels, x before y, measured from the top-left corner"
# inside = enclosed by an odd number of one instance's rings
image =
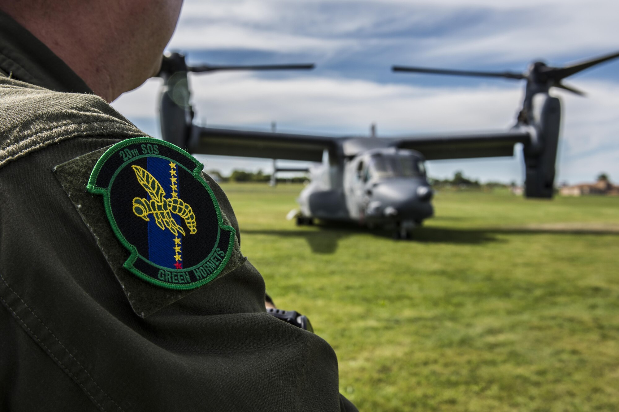
[[[424,54],[428,58],[477,56],[485,62],[570,54],[588,58],[618,48],[617,12],[617,2],[605,0],[572,2],[560,7],[542,3],[521,10],[520,18],[508,19],[502,26],[490,20],[490,27],[469,28],[457,36],[441,38],[428,45]]]

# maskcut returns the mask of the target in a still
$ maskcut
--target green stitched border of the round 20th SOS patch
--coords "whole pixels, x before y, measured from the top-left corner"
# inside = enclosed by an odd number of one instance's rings
[[[135,268],[133,264],[136,262],[138,257],[141,257],[141,255],[139,255],[139,253],[137,252],[137,248],[135,246],[133,246],[131,243],[129,243],[127,241],[127,239],[124,238],[123,233],[121,233],[121,231],[119,230],[118,225],[116,224],[116,220],[114,218],[114,215],[113,215],[113,213],[111,211],[111,206],[110,206],[110,186],[113,183],[114,179],[110,179],[110,185],[108,187],[98,187],[96,185],[99,172],[102,170],[103,166],[105,165],[105,162],[112,155],[114,155],[116,152],[118,152],[119,150],[123,149],[124,147],[126,147],[128,145],[139,144],[139,143],[142,143],[142,142],[149,143],[149,144],[152,144],[152,143],[156,142],[156,144],[163,145],[165,147],[171,148],[171,149],[175,150],[176,152],[180,153],[181,155],[189,158],[189,160],[193,161],[193,163],[196,165],[196,168],[194,168],[194,170],[191,172],[191,174],[192,174],[192,176],[194,176],[194,178],[197,179],[197,181],[202,183],[202,186],[204,186],[204,188],[206,189],[206,191],[210,195],[210,199],[212,200],[213,205],[215,207],[215,213],[217,213],[217,226],[219,228],[219,233],[217,234],[217,239],[218,240],[217,240],[217,242],[215,242],[215,245],[213,246],[212,251],[209,252],[209,255],[206,257],[206,259],[204,259],[204,261],[201,262],[201,264],[198,264],[196,266],[202,265],[204,262],[206,262],[206,260],[208,260],[211,257],[211,255],[213,254],[213,252],[215,251],[215,249],[217,248],[217,246],[219,244],[219,239],[220,239],[221,231],[222,230],[230,231],[230,241],[228,242],[228,249],[226,251],[225,257],[223,257],[222,263],[219,265],[217,270],[215,270],[215,272],[211,273],[208,277],[206,277],[206,278],[204,278],[202,280],[194,281],[192,283],[187,283],[185,285],[178,285],[176,283],[167,283],[167,282],[160,281],[158,279],[152,278],[149,275],[146,275],[145,273],[143,273],[140,270],[138,270],[137,268]],[[158,156],[155,156],[155,157],[163,157],[163,158],[167,158],[170,161],[174,161],[173,159],[170,159],[170,158],[162,156],[162,155],[158,155]],[[135,160],[135,158],[133,158],[131,161],[134,161],[134,160]],[[131,161],[124,162],[123,165],[120,166],[120,168],[123,168],[128,163],[131,163]],[[121,244],[126,249],[128,249],[129,252],[131,252],[131,255],[129,255],[129,259],[127,259],[126,262],[124,262],[124,264],[123,264],[123,267],[126,268],[127,270],[129,270],[129,272],[134,273],[134,275],[136,275],[137,277],[141,278],[142,280],[145,280],[145,281],[147,281],[149,283],[152,283],[153,285],[156,285],[156,286],[161,286],[163,288],[175,289],[175,290],[191,290],[191,289],[198,288],[199,286],[206,285],[206,283],[209,283],[210,281],[214,280],[215,278],[217,278],[217,276],[225,268],[225,266],[228,263],[228,260],[230,260],[230,257],[232,256],[232,251],[234,249],[234,239],[235,239],[236,231],[235,231],[235,229],[232,226],[228,226],[228,225],[224,225],[223,224],[222,212],[221,212],[221,210],[219,208],[219,202],[217,202],[217,198],[215,197],[215,194],[210,189],[210,187],[207,184],[207,182],[204,181],[204,179],[202,179],[202,177],[200,176],[200,173],[202,172],[203,169],[204,169],[204,165],[202,165],[202,163],[200,163],[196,158],[194,158],[192,155],[190,155],[185,150],[181,149],[180,147],[178,147],[176,145],[168,143],[165,140],[158,140],[158,139],[154,139],[152,137],[134,137],[132,139],[126,139],[126,140],[123,140],[122,142],[118,142],[117,144],[113,145],[108,150],[106,150],[105,153],[103,153],[102,157],[100,157],[99,160],[97,160],[97,164],[95,165],[95,168],[93,168],[92,173],[90,173],[90,178],[88,179],[88,184],[86,185],[86,190],[88,192],[92,193],[92,194],[100,194],[100,195],[103,196],[103,204],[105,205],[105,213],[106,213],[106,215],[108,217],[108,221],[110,221],[111,228],[112,228],[114,234],[116,235],[116,238],[118,238],[118,240],[121,242]],[[141,259],[144,259],[144,257],[141,257]],[[152,262],[150,262],[150,261],[148,261],[148,262],[149,262],[149,264],[152,264]],[[152,264],[152,265],[154,265],[154,264]],[[157,266],[157,265],[154,265],[154,266]],[[191,268],[186,268],[186,269],[183,269],[183,270],[170,269],[170,268],[165,268],[165,269],[170,271],[170,272],[179,272],[179,273],[180,272],[188,272],[188,270],[191,270]]]

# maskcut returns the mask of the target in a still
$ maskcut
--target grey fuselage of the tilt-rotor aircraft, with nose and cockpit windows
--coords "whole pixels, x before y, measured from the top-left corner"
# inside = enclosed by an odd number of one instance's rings
[[[312,181],[298,198],[301,222],[311,218],[358,221],[407,233],[433,215],[433,192],[421,153],[367,150],[345,160],[340,186],[331,183],[335,179],[329,180],[334,167],[321,165],[311,170]]]

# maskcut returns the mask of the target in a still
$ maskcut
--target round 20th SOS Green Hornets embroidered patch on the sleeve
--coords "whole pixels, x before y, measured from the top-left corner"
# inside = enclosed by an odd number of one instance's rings
[[[112,230],[131,255],[124,267],[170,289],[193,289],[219,275],[235,230],[200,177],[204,165],[173,144],[150,137],[110,147],[87,191],[103,195]]]

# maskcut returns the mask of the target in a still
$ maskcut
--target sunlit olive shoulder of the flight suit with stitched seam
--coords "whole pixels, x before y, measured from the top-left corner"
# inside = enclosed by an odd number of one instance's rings
[[[102,98],[0,77],[0,168],[74,137],[145,136]]]

